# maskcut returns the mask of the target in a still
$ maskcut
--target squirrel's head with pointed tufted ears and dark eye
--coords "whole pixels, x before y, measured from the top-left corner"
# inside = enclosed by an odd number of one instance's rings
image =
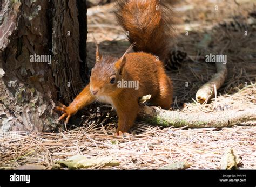
[[[120,59],[112,56],[102,56],[96,43],[96,63],[92,68],[90,77],[90,90],[93,95],[111,96],[118,89],[125,73],[125,55],[132,49],[131,45]]]

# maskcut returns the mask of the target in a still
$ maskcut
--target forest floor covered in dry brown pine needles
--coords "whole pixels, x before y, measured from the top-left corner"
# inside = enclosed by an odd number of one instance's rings
[[[217,2],[217,3],[216,3]],[[217,5],[217,6],[216,6]],[[95,62],[97,39],[100,51],[116,57],[129,47],[122,28],[114,17],[113,3],[88,9],[87,60]],[[174,9],[176,38],[173,49],[187,54],[186,59],[167,73],[172,78],[172,110],[207,113],[256,107],[256,1],[186,0]],[[188,31],[188,35],[186,35]],[[200,105],[195,100],[201,85],[215,73],[205,55],[226,54],[228,76],[218,90],[217,99]],[[230,128],[164,128],[136,121],[130,138],[112,133],[117,118],[109,107],[92,105],[78,128],[63,133],[8,133],[0,139],[1,168],[39,164],[51,169],[55,161],[76,154],[88,158],[111,156],[118,166],[96,164],[97,169],[159,169],[186,161],[187,169],[220,169],[225,150],[232,148],[240,169],[256,169],[256,121]],[[89,117],[89,118],[87,118]],[[41,168],[42,169],[42,168]]]

